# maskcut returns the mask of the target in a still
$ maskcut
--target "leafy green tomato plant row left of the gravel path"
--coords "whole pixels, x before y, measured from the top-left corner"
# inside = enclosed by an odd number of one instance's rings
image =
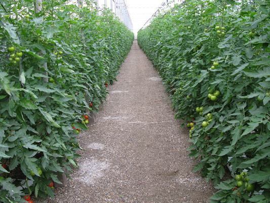
[[[85,112],[99,110],[134,35],[95,1],[3,0],[0,15],[0,201],[31,202],[77,166]]]

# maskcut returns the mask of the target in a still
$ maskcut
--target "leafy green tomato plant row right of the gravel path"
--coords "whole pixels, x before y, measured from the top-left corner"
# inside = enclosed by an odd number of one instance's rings
[[[270,199],[269,8],[260,0],[186,0],[138,32],[175,117],[190,127],[194,171],[218,189],[210,202]]]

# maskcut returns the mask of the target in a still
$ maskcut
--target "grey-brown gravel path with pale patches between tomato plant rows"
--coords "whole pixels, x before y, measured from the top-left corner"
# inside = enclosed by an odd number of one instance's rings
[[[80,133],[80,168],[34,202],[208,202],[214,192],[188,157],[188,129],[180,128],[161,78],[134,41],[117,82],[89,131]]]

